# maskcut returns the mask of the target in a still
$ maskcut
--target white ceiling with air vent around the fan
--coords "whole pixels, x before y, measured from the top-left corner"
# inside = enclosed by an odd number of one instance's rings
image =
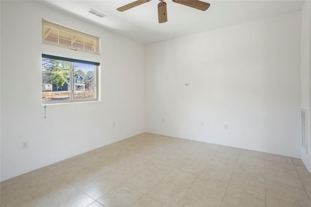
[[[134,0],[38,0],[76,18],[127,36],[141,43],[152,43],[194,32],[230,26],[268,16],[300,10],[304,0],[204,0],[210,3],[203,12],[167,2],[168,22],[158,23],[158,0],[152,0],[125,12],[116,9]],[[94,9],[106,17],[88,13]]]

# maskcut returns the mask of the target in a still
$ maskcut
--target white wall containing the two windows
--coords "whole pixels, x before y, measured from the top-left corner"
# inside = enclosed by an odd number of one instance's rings
[[[33,1],[0,3],[1,180],[145,131],[142,44]],[[43,45],[42,18],[100,36],[101,54]],[[47,106],[44,118],[42,53],[100,62],[101,101]]]

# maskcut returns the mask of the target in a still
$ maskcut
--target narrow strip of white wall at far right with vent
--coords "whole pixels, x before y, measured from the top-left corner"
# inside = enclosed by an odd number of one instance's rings
[[[310,51],[311,51],[311,1],[306,0],[301,15],[301,108],[308,111],[308,125],[310,126]],[[301,149],[301,159],[311,171],[311,138],[310,128],[307,127],[309,155],[306,149]]]

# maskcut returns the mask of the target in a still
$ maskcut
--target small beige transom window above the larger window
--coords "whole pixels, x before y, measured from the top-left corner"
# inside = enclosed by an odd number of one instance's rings
[[[98,54],[98,37],[45,20],[42,20],[42,42],[62,48]]]

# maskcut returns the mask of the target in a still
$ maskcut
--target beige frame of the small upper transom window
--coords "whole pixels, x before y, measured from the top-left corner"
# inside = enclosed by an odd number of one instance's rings
[[[57,39],[58,39],[57,43],[46,41],[45,40],[45,26],[53,28],[53,29],[56,29],[58,31],[63,31],[63,32],[70,33],[72,35],[83,37],[84,39],[86,38],[86,39],[94,40],[94,42],[95,42],[95,44],[94,44],[94,51],[85,50],[85,49],[81,49],[81,48],[76,48],[76,47],[73,47],[72,44],[71,44],[70,47],[67,46],[67,45],[59,44],[59,39],[63,39],[62,37],[59,36],[59,34],[57,36]],[[59,24],[55,24],[55,23],[52,23],[52,22],[44,20],[44,19],[42,19],[42,43],[43,44],[47,44],[47,45],[52,45],[52,46],[60,47],[60,48],[68,48],[68,49],[71,49],[71,50],[77,50],[77,51],[82,51],[82,52],[96,54],[96,55],[99,54],[99,37],[91,35],[91,34],[87,34],[85,32],[80,32],[80,31],[71,29],[69,27],[65,27],[65,26],[59,25]],[[79,43],[79,44],[81,44],[81,43]],[[84,41],[83,45],[84,46],[87,45],[85,43],[85,41]]]

